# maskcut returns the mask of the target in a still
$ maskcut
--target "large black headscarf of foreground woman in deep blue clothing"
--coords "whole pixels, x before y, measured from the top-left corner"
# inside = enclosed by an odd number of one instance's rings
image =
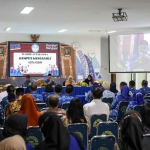
[[[48,116],[41,125],[41,121]],[[42,118],[42,119],[41,119]],[[51,113],[43,114],[39,118],[41,131],[45,140],[37,149],[46,150],[69,150],[70,134],[64,127],[61,119]]]

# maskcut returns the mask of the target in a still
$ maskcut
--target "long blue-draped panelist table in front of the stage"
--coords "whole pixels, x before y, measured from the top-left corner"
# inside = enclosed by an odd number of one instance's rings
[[[44,89],[45,88],[41,88],[41,87],[38,87],[38,90],[37,92],[39,94],[42,94],[42,92],[44,92]],[[66,87],[63,86],[63,90],[62,90],[62,94],[65,94],[65,89]],[[77,86],[77,87],[74,87],[74,90],[73,90],[73,93],[72,93],[72,96],[76,96],[76,95],[85,95],[86,92],[90,91],[92,89],[91,86],[88,86],[88,87],[80,87],[80,86]],[[24,90],[26,91],[26,88],[24,87]]]

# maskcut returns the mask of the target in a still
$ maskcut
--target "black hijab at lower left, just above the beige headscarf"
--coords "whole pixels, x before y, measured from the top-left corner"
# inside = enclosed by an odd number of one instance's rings
[[[27,115],[13,114],[8,120],[3,130],[4,138],[11,137],[14,135],[20,135],[24,137],[27,134]]]

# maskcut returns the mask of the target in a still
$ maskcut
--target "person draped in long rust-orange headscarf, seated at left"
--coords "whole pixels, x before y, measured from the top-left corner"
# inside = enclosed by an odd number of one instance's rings
[[[24,94],[21,101],[20,111],[18,114],[26,114],[28,116],[28,126],[38,126],[38,119],[42,112],[38,111],[38,107],[31,94]]]

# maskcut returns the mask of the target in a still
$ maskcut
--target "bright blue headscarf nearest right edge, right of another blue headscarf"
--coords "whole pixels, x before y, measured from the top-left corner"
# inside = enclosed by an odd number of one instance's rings
[[[144,99],[143,99],[142,91],[141,90],[136,90],[135,93],[133,94],[132,104],[142,105],[144,103],[145,102],[144,102]]]

